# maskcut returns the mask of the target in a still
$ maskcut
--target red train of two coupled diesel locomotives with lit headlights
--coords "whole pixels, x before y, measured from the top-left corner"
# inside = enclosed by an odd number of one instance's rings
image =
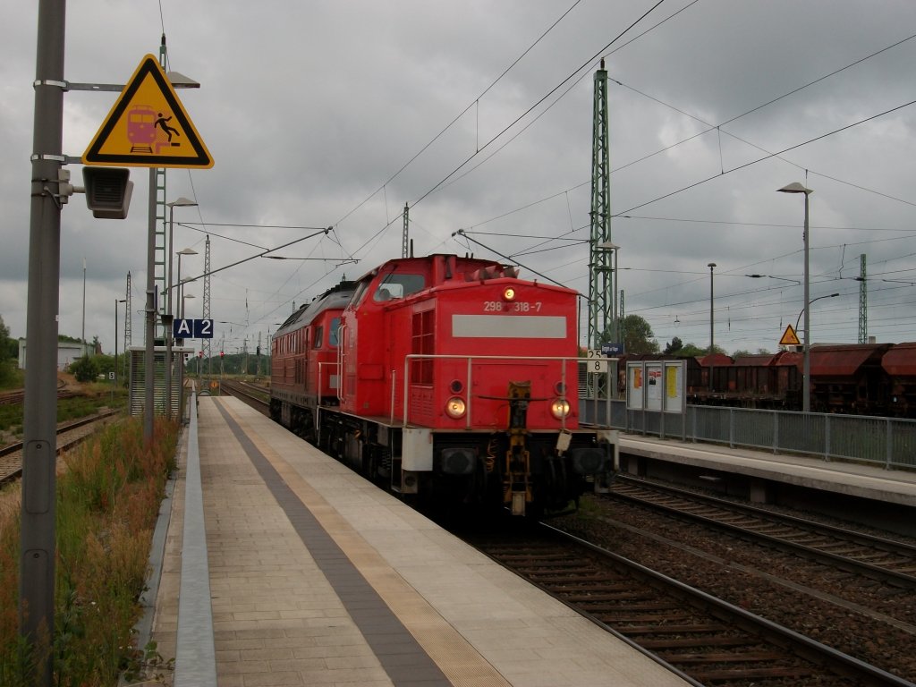
[[[538,514],[605,488],[613,432],[579,426],[575,291],[454,255],[389,260],[344,307],[351,289],[278,330],[276,420],[431,503]]]

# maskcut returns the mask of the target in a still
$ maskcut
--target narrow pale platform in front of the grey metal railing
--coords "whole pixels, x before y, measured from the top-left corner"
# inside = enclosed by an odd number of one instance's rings
[[[916,507],[916,471],[889,470],[880,465],[825,461],[811,456],[685,443],[633,434],[620,436],[620,453],[625,455],[623,468],[630,472],[636,472],[638,466],[637,463],[627,463],[626,456],[744,474],[762,481],[834,495]],[[755,495],[750,496],[753,498]],[[766,500],[766,496],[760,494],[754,500]]]

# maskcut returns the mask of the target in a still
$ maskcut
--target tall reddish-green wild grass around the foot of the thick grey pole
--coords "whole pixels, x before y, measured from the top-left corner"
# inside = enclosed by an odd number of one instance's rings
[[[147,574],[150,540],[178,424],[157,420],[152,447],[142,419],[116,423],[64,457],[58,477],[55,635],[56,687],[107,687],[136,672],[143,652],[132,628]],[[18,637],[19,500],[0,498],[0,684],[35,682],[35,654]],[[26,657],[26,658],[24,658]],[[32,660],[29,660],[31,658]]]

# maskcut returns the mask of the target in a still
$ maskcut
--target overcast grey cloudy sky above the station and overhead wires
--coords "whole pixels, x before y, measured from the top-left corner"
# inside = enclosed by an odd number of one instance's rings
[[[0,24],[0,315],[16,337],[37,6]],[[602,57],[619,286],[660,344],[708,345],[714,262],[715,343],[776,350],[803,307],[803,196],[776,192],[792,181],[813,190],[811,298],[839,294],[812,303],[812,342],[856,343],[862,255],[868,334],[916,340],[911,0],[78,0],[66,79],[124,83],[163,33],[169,69],[202,83],[179,93],[215,160],[169,170],[168,199],[199,203],[175,210],[175,249],[200,254],[182,277],[202,273],[207,235],[218,268],[333,227],[213,275],[227,351],[399,256],[405,203],[416,254],[473,251],[587,294]],[[66,94],[65,154],[115,97]],[[128,272],[142,343],[147,170],[132,178],[129,219],[95,220],[82,196],[62,213],[60,333],[81,334],[85,259],[85,332],[106,352]]]

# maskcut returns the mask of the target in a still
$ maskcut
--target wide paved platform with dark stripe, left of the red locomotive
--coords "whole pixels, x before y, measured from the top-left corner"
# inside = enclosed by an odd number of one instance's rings
[[[241,401],[188,434],[148,602],[177,687],[687,684]]]

